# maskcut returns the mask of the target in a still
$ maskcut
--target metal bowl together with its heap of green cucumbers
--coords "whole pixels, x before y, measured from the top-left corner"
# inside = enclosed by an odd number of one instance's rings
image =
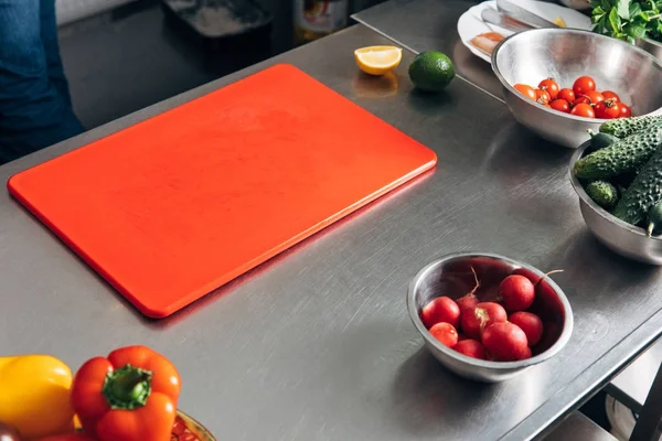
[[[662,116],[604,122],[570,160],[591,233],[629,259],[662,266]]]

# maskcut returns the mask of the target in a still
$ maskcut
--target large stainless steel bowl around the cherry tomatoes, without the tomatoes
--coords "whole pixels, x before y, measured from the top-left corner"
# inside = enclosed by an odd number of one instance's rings
[[[492,69],[503,84],[505,103],[515,119],[542,138],[576,149],[605,120],[562,114],[520,94],[517,83],[536,86],[554,78],[572,87],[591,76],[600,90],[616,92],[634,115],[662,112],[662,64],[623,41],[573,29],[533,29],[503,40],[492,53]]]

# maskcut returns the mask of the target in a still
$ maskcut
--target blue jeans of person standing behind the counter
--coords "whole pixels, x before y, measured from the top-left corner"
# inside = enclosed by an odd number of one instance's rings
[[[60,58],[55,0],[0,0],[0,163],[82,131]]]

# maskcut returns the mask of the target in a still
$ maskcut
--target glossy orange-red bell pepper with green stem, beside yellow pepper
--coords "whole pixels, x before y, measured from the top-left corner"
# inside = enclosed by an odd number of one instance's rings
[[[85,433],[99,441],[169,441],[181,389],[175,367],[145,346],[86,362],[72,401]]]

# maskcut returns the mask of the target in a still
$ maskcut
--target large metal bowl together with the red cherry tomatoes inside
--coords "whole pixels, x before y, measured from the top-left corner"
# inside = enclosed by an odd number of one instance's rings
[[[606,35],[533,29],[492,53],[514,118],[540,137],[576,149],[607,119],[662,112],[662,64]]]

